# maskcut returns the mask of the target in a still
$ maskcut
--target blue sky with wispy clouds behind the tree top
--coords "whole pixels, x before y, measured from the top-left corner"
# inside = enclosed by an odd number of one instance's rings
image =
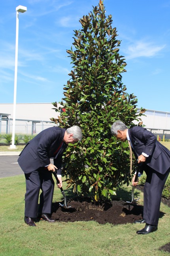
[[[16,7],[19,14],[17,103],[61,101],[70,79],[73,43],[79,18],[99,0],[5,0],[0,15],[0,103],[13,103]],[[170,112],[170,0],[104,0],[106,15],[121,40],[127,73],[123,84],[138,107]]]

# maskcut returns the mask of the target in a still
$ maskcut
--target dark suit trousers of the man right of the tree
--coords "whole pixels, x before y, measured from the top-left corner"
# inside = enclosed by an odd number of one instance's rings
[[[160,174],[147,166],[147,175],[144,185],[144,214],[145,222],[150,225],[158,225],[159,210],[161,205],[162,190],[170,168],[165,174]]]

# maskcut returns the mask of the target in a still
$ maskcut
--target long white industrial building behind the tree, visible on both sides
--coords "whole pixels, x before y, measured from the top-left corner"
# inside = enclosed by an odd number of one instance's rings
[[[17,103],[15,133],[38,134],[54,125],[50,118],[57,118],[52,103]],[[0,134],[12,132],[13,103],[0,103]],[[148,109],[142,117],[145,128],[162,139],[170,139],[170,112]]]

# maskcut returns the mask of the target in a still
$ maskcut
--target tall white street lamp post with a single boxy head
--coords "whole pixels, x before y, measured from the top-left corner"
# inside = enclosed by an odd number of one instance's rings
[[[15,149],[15,115],[16,115],[16,98],[17,98],[17,67],[18,67],[18,31],[19,31],[19,12],[25,12],[27,8],[19,5],[16,8],[16,44],[15,44],[15,75],[14,75],[14,93],[13,93],[13,126],[12,126],[12,145],[11,149]]]

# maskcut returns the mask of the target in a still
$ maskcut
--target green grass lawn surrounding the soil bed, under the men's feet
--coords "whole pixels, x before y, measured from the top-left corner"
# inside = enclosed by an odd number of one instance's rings
[[[64,182],[65,183],[65,182]],[[65,189],[65,184],[63,188]],[[132,187],[122,187],[121,200],[130,200]],[[143,193],[140,193],[140,204]],[[66,191],[67,195],[67,191]],[[158,231],[137,235],[141,224],[98,224],[89,222],[38,222],[29,227],[24,222],[25,176],[0,179],[0,256],[163,256],[159,247],[170,242],[170,208],[161,203],[163,217]],[[68,195],[67,195],[68,196]],[[137,195],[135,195],[136,197]],[[53,201],[61,201],[55,186]]]

